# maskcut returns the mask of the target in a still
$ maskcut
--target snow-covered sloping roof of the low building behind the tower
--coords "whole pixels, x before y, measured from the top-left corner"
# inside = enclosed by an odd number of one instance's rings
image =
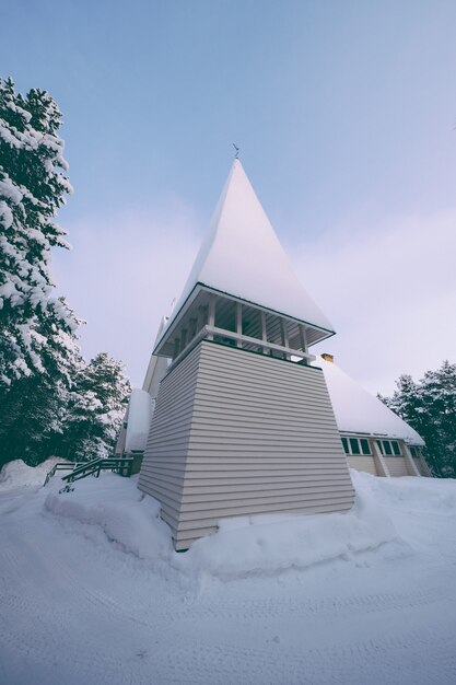
[[[323,369],[336,422],[341,432],[387,436],[411,444],[424,444],[413,428],[334,362],[317,357],[314,365]]]

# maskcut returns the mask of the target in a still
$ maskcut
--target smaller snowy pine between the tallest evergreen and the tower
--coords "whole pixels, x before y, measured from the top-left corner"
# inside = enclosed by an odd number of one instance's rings
[[[106,352],[81,368],[69,395],[59,454],[72,461],[112,454],[130,392],[121,362]]]

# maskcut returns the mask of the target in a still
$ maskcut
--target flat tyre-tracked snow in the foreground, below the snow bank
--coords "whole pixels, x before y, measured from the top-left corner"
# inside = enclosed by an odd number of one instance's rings
[[[304,582],[279,596],[284,584],[266,581],[254,596],[252,582],[221,583],[199,597],[176,587],[173,596],[140,562],[96,554],[92,541],[72,541],[39,513],[28,521],[12,511],[0,523],[0,681],[8,685],[455,682],[451,569],[441,581],[417,572],[402,591],[378,570],[375,583],[366,582],[370,569],[352,580],[348,565],[344,587],[364,584],[347,596],[323,587],[318,599]],[[109,559],[115,567],[103,566]]]

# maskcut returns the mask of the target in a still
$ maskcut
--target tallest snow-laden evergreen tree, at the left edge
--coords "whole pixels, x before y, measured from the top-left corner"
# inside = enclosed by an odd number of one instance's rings
[[[80,322],[49,270],[51,248],[68,247],[52,220],[71,191],[60,124],[45,91],[0,80],[0,464],[48,456],[81,363]]]

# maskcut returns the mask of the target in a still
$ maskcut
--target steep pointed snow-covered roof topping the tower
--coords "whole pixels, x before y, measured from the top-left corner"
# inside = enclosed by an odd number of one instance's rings
[[[296,277],[237,159],[164,334],[198,283],[334,333]]]

